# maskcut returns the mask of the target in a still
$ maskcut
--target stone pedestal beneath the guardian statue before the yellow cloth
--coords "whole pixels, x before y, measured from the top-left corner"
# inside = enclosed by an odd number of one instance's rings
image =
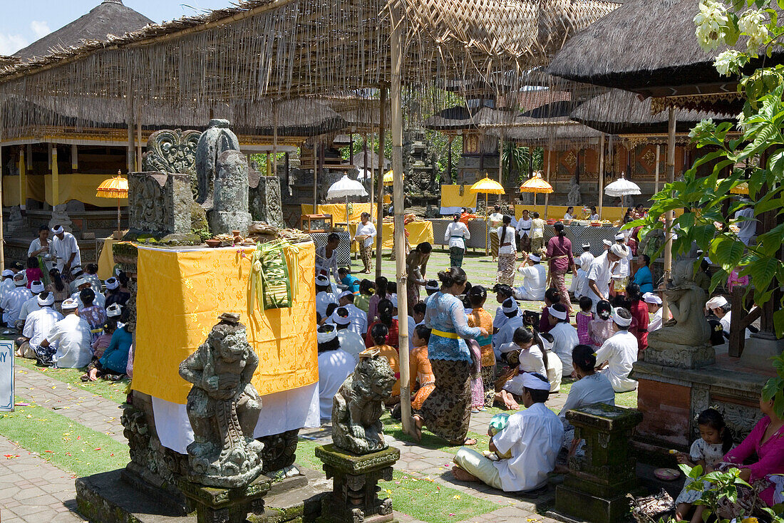
[[[245,523],[248,514],[263,514],[270,480],[256,478],[242,488],[214,488],[180,481],[180,488],[196,506],[198,523]]]

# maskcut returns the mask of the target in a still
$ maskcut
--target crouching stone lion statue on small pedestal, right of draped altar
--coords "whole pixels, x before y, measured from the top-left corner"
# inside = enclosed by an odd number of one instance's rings
[[[365,350],[359,358],[354,373],[332,399],[332,442],[339,449],[368,454],[389,446],[379,418],[395,378],[389,361],[378,350]]]

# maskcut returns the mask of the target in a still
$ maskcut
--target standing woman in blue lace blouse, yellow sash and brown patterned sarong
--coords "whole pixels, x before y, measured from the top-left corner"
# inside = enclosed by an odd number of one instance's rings
[[[466,339],[489,336],[483,327],[469,327],[463,302],[457,296],[466,289],[466,271],[451,267],[438,273],[441,290],[430,296],[425,325],[432,329],[427,355],[435,376],[435,388],[412,416],[415,438],[422,438],[427,426],[451,445],[476,445],[466,439],[471,417],[471,354]]]

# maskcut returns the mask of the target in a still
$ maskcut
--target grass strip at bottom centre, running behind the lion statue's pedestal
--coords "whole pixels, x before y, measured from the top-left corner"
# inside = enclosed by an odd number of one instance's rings
[[[315,456],[315,449],[319,445],[299,438],[297,463],[321,470],[321,460]],[[463,521],[502,507],[498,503],[439,485],[429,476],[401,470],[394,470],[392,481],[382,481],[379,487],[392,498],[394,510],[428,523]]]

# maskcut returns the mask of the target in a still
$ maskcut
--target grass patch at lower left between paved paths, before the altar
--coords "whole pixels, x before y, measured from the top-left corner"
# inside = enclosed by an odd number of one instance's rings
[[[16,398],[16,402],[30,401]],[[130,461],[128,445],[34,403],[0,414],[0,434],[79,477],[116,470]]]

